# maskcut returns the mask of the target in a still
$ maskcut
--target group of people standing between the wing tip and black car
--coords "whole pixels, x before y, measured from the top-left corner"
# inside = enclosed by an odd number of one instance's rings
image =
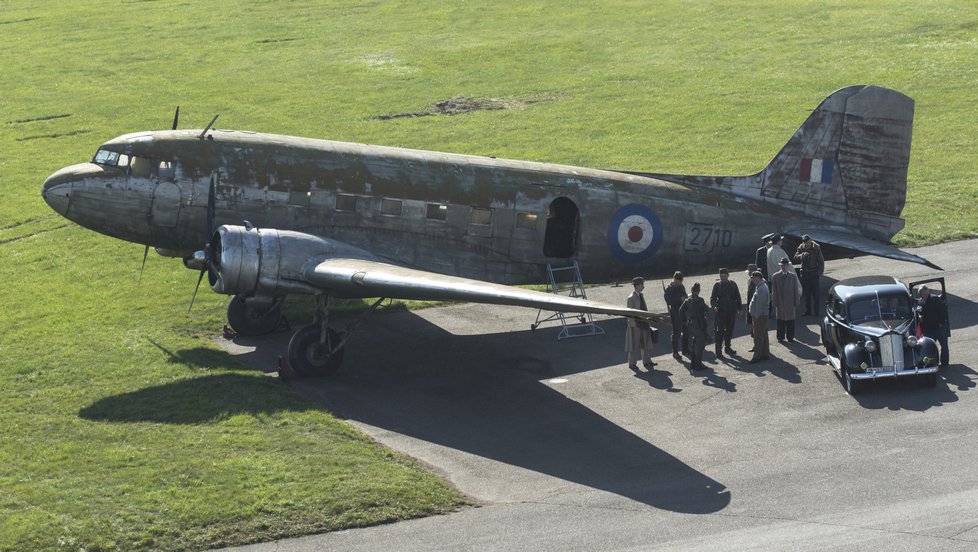
[[[808,235],[802,237],[802,243],[793,257],[794,262],[800,265],[798,273],[781,247],[783,236],[768,234],[762,239],[764,245],[758,248],[755,262],[747,269],[746,321],[754,338],[751,363],[770,358],[767,336],[770,317],[777,321],[778,341],[791,343],[795,339],[795,319],[802,301],[805,306],[803,316],[818,315],[819,277],[825,270],[822,250]],[[632,284],[635,291],[628,298],[628,307],[648,310],[642,295],[645,281],[635,278]],[[700,290],[700,284],[695,283],[690,288],[690,294],[687,294],[683,274],[677,271],[663,293],[672,322],[672,356],[676,360],[681,360],[681,355],[688,356],[693,370],[705,368],[703,352],[707,344],[707,310],[714,312],[713,344],[717,358],[724,358],[724,354],[737,354],[731,348],[730,340],[737,316],[744,311],[740,288],[730,279],[730,271],[726,268],[719,270],[719,280],[713,284],[709,306],[700,297]],[[629,319],[625,350],[629,353],[628,365],[633,370],[638,369],[640,356],[647,369],[655,366],[651,358],[651,337],[647,324],[643,327],[641,321]]]

